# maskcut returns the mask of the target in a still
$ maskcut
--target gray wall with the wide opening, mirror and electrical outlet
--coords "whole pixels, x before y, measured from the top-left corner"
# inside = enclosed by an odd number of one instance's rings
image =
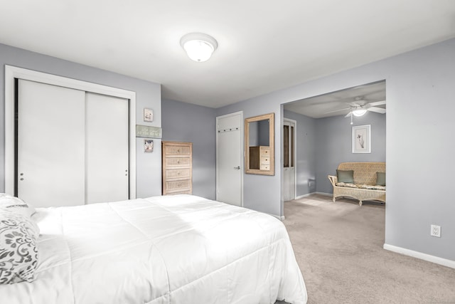
[[[275,112],[276,174],[245,174],[244,205],[283,214],[283,103],[386,80],[385,243],[455,261],[455,204],[447,199],[455,168],[454,53],[451,39],[218,109],[244,117]],[[441,238],[429,235],[431,224],[441,226]]]

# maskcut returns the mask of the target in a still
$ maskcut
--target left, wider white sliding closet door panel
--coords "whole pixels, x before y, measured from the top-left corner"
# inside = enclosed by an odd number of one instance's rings
[[[84,202],[85,92],[18,80],[17,195],[33,206]]]

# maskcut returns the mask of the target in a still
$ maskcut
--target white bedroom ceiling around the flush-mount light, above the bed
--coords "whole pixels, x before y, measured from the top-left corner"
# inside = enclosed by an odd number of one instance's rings
[[[219,108],[455,37],[454,0],[0,0],[0,43]],[[179,41],[218,41],[205,63]]]

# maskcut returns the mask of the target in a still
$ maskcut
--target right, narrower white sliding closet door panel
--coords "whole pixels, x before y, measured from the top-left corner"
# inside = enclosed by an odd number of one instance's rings
[[[85,202],[129,199],[129,100],[85,95]]]

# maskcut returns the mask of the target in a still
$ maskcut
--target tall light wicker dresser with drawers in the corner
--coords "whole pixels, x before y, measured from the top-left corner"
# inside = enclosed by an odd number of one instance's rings
[[[163,195],[193,192],[193,143],[162,142]]]

